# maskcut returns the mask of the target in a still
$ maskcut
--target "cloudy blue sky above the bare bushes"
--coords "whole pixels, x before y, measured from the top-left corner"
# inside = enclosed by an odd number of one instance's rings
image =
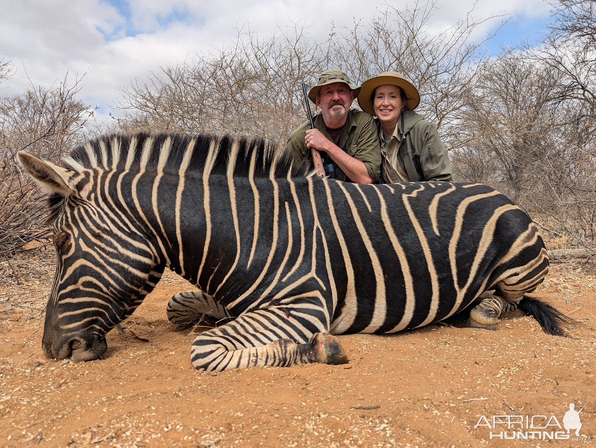
[[[386,0],[366,3],[367,10],[356,0],[344,0],[341,8],[331,0],[0,0],[0,59],[13,66],[13,76],[0,83],[0,95],[57,86],[67,73],[70,80],[85,74],[79,98],[99,106],[97,116],[105,117],[132,79],[221,46],[241,23],[266,35],[304,20],[311,36],[323,41],[332,21],[336,27],[350,27],[355,18],[365,24],[375,9],[387,5]],[[408,4],[390,2],[396,8]],[[436,0],[436,5],[432,27],[441,29],[465,19],[474,0]],[[510,14],[486,43],[494,53],[501,45],[536,42],[545,32],[549,9],[544,0],[500,0],[498,5],[481,0],[473,15]],[[486,35],[498,25],[499,19],[489,21],[478,32]]]

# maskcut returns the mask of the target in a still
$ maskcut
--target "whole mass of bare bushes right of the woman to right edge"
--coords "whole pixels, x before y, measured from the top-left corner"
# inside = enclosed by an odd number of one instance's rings
[[[491,184],[535,217],[551,248],[596,246],[594,2],[560,0],[541,45],[485,65],[465,108],[460,177]]]

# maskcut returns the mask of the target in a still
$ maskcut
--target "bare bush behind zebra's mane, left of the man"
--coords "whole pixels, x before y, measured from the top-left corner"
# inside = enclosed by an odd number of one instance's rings
[[[123,91],[124,129],[262,136],[284,144],[306,119],[300,83],[324,70],[303,23],[262,37],[248,25],[219,51],[164,66]]]

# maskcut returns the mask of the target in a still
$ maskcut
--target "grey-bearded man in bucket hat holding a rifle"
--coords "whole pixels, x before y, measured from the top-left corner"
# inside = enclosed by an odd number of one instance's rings
[[[308,92],[308,98],[321,109],[310,123],[296,129],[285,151],[304,160],[311,157],[311,148],[321,152],[325,174],[338,180],[373,183],[378,180],[381,152],[374,118],[366,112],[351,109],[360,86],[350,84],[341,70],[327,70]],[[327,165],[333,164],[332,169]]]

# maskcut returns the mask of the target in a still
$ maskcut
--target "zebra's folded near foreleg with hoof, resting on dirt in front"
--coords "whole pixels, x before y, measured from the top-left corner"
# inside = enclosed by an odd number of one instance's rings
[[[252,366],[345,364],[349,360],[337,338],[283,322],[285,312],[259,310],[201,333],[193,343],[191,362],[200,371]],[[287,319],[287,318],[286,318]]]

